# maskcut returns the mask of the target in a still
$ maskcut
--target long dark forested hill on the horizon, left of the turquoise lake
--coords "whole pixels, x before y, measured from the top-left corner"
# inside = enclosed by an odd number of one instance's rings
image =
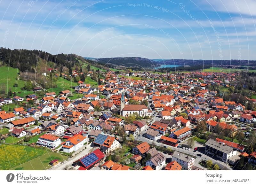
[[[138,68],[154,68],[159,66],[158,63],[154,60],[148,58],[139,58],[139,57],[126,57],[126,58],[99,58],[95,61],[104,66],[114,68],[117,66],[121,67],[138,67]]]

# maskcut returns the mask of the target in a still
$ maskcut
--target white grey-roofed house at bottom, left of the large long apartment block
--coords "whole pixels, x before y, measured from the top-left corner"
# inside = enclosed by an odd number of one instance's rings
[[[195,165],[195,158],[178,151],[173,152],[172,161],[177,161],[182,166],[183,170],[191,170]]]

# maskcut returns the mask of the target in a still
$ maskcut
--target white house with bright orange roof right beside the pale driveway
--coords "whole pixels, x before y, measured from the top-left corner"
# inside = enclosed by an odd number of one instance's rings
[[[87,137],[80,134],[70,137],[61,147],[60,151],[71,153],[73,151],[79,150],[87,143]]]

